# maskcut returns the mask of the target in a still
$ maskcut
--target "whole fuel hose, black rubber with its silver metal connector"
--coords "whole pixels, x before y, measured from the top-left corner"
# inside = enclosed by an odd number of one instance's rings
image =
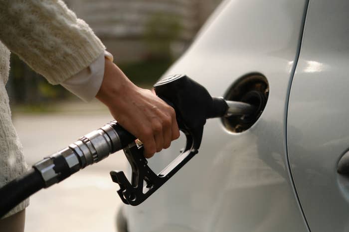
[[[35,163],[23,175],[0,188],[0,218],[42,188],[58,183],[80,169],[125,148],[135,137],[111,121],[67,148]]]

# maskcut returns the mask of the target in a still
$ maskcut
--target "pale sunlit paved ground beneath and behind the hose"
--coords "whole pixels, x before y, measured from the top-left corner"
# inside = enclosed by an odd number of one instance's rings
[[[29,165],[112,120],[96,103],[57,107],[57,113],[14,113],[14,125]],[[27,208],[25,232],[115,232],[121,200],[109,171],[126,167],[123,153],[116,153],[34,194]]]

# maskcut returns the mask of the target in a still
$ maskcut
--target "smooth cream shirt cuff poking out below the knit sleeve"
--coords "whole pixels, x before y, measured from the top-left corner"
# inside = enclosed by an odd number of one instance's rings
[[[104,51],[90,66],[64,80],[61,85],[80,99],[91,101],[103,81],[105,58],[113,62],[113,55]]]

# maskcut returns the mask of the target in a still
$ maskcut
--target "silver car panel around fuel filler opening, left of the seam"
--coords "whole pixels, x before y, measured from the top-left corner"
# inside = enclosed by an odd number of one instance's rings
[[[308,231],[285,138],[306,7],[306,0],[225,1],[170,68],[166,75],[186,74],[212,96],[223,96],[239,77],[258,72],[269,81],[269,99],[243,133],[228,132],[220,119],[208,120],[199,153],[144,203],[126,207],[130,232]],[[150,166],[160,171],[182,147],[174,143],[150,159]]]

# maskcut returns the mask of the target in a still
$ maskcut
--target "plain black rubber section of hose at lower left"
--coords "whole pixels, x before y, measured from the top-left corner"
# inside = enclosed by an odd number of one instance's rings
[[[0,188],[0,218],[44,187],[40,173],[32,168]]]

